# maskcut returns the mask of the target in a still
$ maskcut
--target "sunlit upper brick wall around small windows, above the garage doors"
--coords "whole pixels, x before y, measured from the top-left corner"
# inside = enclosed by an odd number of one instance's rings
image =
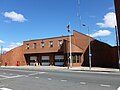
[[[49,38],[43,40],[30,40],[24,42],[24,52],[25,53],[52,53],[52,52],[63,52],[63,48],[59,46],[59,40],[67,40],[69,37],[59,37],[59,38]],[[50,41],[53,41],[53,47],[50,48]],[[44,42],[44,48],[42,48],[41,42]],[[33,44],[36,43],[36,49]],[[30,45],[30,49],[26,49],[26,45]]]

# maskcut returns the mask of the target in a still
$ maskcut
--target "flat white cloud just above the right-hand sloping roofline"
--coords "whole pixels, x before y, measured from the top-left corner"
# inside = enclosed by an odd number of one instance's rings
[[[93,34],[90,34],[91,37],[98,37],[98,36],[109,36],[111,32],[109,30],[99,30]]]

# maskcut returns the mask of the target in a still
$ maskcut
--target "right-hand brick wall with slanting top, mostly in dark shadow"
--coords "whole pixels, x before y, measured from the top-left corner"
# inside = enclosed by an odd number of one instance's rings
[[[82,66],[89,66],[89,48],[88,48],[89,37],[74,31],[74,37],[72,41],[75,45],[82,48],[84,53],[82,54]],[[118,59],[116,48],[112,46],[90,38],[90,46],[92,53],[92,67],[109,67],[118,68]],[[78,66],[77,64],[74,66]]]

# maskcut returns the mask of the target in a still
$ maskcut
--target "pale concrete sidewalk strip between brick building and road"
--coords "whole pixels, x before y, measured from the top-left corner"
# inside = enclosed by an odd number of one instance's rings
[[[59,67],[59,66],[1,66],[1,68],[28,69],[28,70],[70,70],[70,71],[92,71],[92,72],[119,72],[119,69],[92,67]]]

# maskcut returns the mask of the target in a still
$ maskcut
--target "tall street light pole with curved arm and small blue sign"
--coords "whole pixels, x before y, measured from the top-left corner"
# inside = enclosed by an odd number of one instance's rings
[[[86,26],[85,24],[83,24],[82,26]],[[86,26],[87,27],[87,29],[88,29],[88,47],[89,47],[89,69],[91,70],[91,67],[92,67],[92,65],[91,65],[91,61],[92,61],[92,59],[91,59],[91,57],[92,57],[92,54],[91,54],[91,45],[90,45],[90,30],[89,30],[89,26]]]

